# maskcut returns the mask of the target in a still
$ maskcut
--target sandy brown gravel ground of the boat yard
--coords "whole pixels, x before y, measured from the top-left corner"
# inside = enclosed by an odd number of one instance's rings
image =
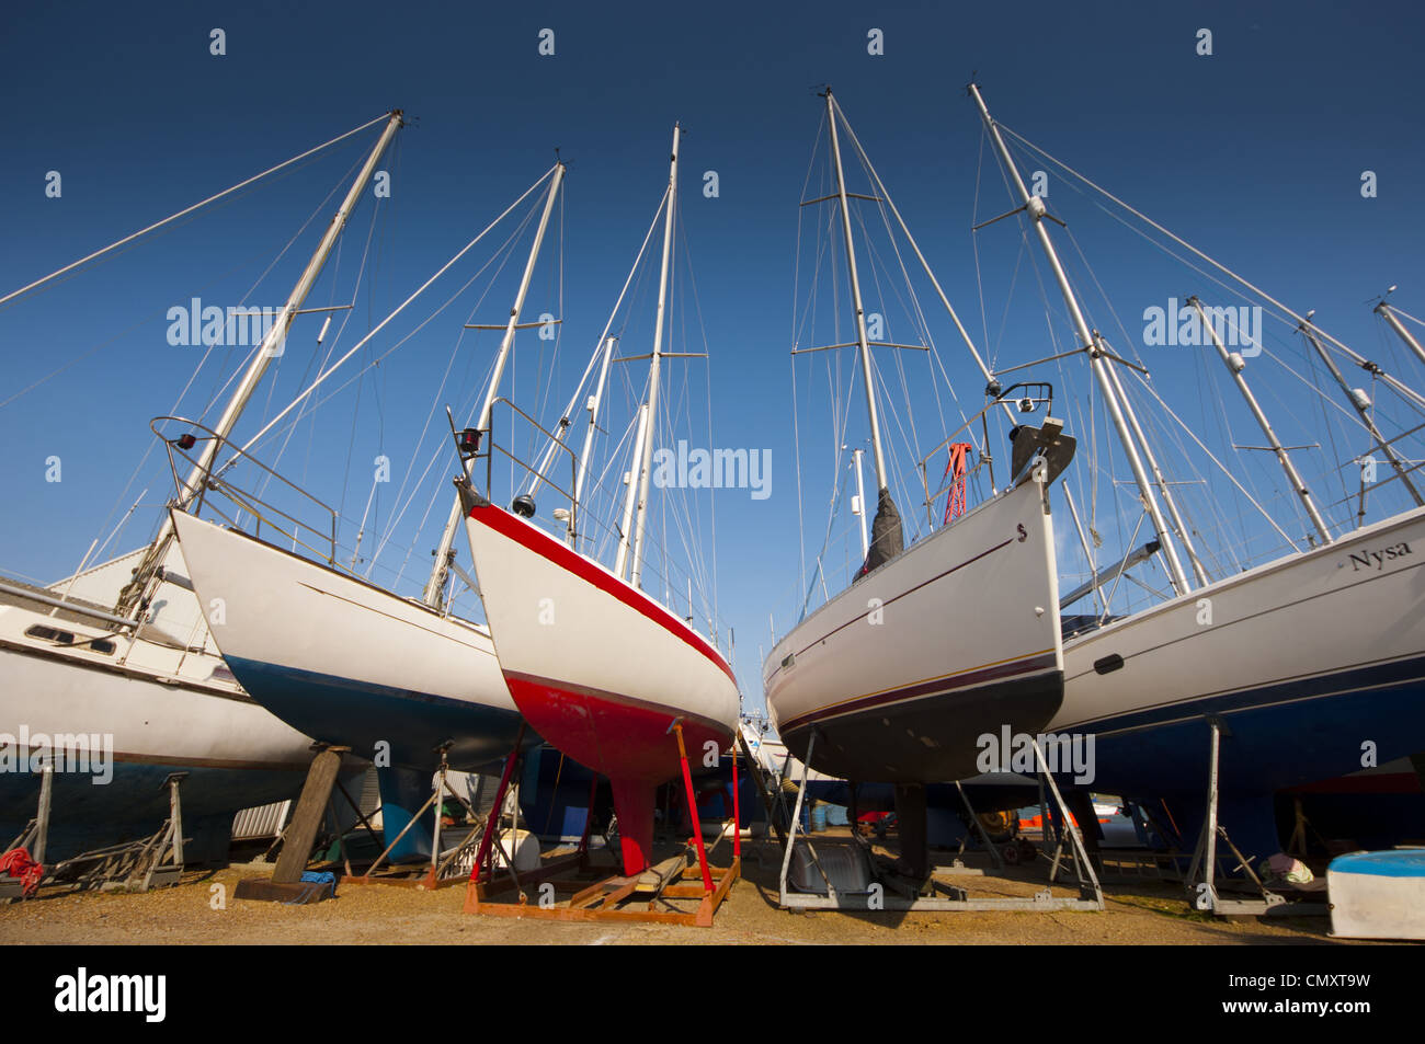
[[[728,857],[720,846],[717,862]],[[973,860],[966,860],[973,866]],[[566,923],[462,913],[465,887],[436,892],[389,884],[338,889],[335,900],[284,906],[237,900],[242,877],[271,865],[188,872],[182,883],[145,894],[44,889],[0,906],[0,944],[1340,944],[1325,917],[1223,920],[1188,909],[1178,886],[1104,886],[1103,913],[789,913],[777,907],[779,850],[744,845],[744,877],[711,929]],[[995,877],[958,877],[975,896],[1032,896],[1043,863]],[[221,886],[221,887],[218,887]],[[1074,894],[1054,887],[1054,894]],[[221,904],[218,899],[224,899]],[[214,909],[222,906],[222,909]]]

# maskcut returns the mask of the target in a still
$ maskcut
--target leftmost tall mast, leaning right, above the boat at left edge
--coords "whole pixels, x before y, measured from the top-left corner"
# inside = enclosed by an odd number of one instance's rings
[[[238,417],[241,417],[242,412],[247,409],[248,400],[261,383],[262,375],[266,373],[272,359],[281,353],[279,346],[286,340],[292,322],[296,319],[302,303],[306,301],[306,295],[316,282],[316,276],[321,275],[322,268],[326,263],[326,258],[332,252],[332,246],[336,245],[338,236],[341,236],[342,229],[346,226],[346,219],[361,201],[362,189],[365,189],[365,187],[370,182],[372,174],[375,174],[376,164],[380,162],[382,154],[386,151],[388,145],[390,145],[392,138],[396,137],[396,131],[399,131],[403,125],[405,120],[402,111],[399,108],[392,110],[390,115],[386,118],[385,130],[382,130],[380,137],[376,140],[376,145],[372,148],[370,155],[366,157],[366,162],[362,164],[352,187],[346,191],[342,205],[338,208],[336,214],[332,215],[331,224],[328,224],[326,232],[322,235],[322,241],[316,245],[316,251],[314,251],[311,259],[306,262],[306,268],[302,269],[302,275],[298,278],[291,295],[288,295],[286,303],[282,306],[282,310],[278,312],[272,326],[264,335],[262,343],[252,355],[248,369],[242,375],[242,380],[238,382],[238,386],[232,392],[232,397],[222,410],[222,416],[212,427],[212,433],[217,439],[207,440],[198,461],[184,480],[182,489],[178,490],[172,506],[180,511],[187,510],[202,490],[204,477],[208,474],[208,469],[212,467],[212,460],[218,456],[222,440],[225,440],[237,426]],[[118,615],[130,615],[134,605],[138,602],[140,594],[148,584],[148,578],[152,575],[154,567],[164,560],[172,538],[172,518],[165,511],[158,536],[150,546],[148,554],[144,555],[142,564],[134,571],[134,578],[118,595]]]

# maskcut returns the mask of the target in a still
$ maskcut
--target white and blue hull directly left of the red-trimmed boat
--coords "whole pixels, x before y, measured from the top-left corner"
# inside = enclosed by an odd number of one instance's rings
[[[456,769],[509,755],[522,718],[483,628],[245,533],[174,526],[228,667],[272,714],[390,766],[433,769],[446,743]]]

